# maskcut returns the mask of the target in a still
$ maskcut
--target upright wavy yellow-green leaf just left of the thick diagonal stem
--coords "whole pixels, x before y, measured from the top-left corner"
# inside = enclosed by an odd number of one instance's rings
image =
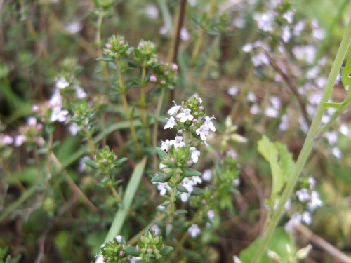
[[[272,194],[275,195],[283,187],[283,171],[278,164],[278,150],[274,143],[270,142],[265,135],[258,141],[258,152],[270,163],[270,170],[272,172]]]

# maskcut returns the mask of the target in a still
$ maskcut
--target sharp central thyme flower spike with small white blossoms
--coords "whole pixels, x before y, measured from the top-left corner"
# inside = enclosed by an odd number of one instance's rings
[[[176,128],[178,135],[174,140],[164,140],[157,153],[161,159],[161,173],[152,178],[157,185],[160,194],[166,193],[173,197],[180,196],[183,202],[187,201],[190,195],[197,195],[197,184],[201,184],[201,173],[192,170],[189,166],[199,161],[199,145],[206,144],[210,130],[216,128],[211,121],[214,117],[206,116],[202,100],[198,97],[191,97],[181,105],[175,105],[168,110],[170,115],[165,129]],[[174,189],[177,194],[174,194]],[[172,198],[173,198],[172,197]],[[166,206],[171,200],[166,201]]]

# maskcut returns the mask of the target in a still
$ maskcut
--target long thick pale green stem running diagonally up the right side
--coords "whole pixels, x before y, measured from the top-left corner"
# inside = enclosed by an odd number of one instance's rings
[[[298,177],[305,166],[305,162],[307,161],[308,156],[312,150],[314,145],[314,135],[316,135],[319,124],[321,123],[322,116],[324,114],[324,103],[329,100],[331,95],[331,90],[333,90],[334,83],[336,81],[336,77],[338,76],[339,69],[343,64],[343,60],[347,53],[347,48],[350,46],[351,41],[351,20],[347,25],[346,32],[343,36],[343,40],[340,43],[340,47],[338,49],[338,53],[336,54],[336,58],[333,62],[333,66],[331,67],[331,72],[329,73],[328,80],[326,81],[326,88],[324,89],[324,93],[322,96],[321,102],[317,107],[317,112],[314,115],[314,119],[312,121],[310,130],[307,133],[307,137],[303,144],[303,148],[301,149],[300,155],[298,156],[298,160],[296,161],[293,170],[289,174],[289,180],[286,184],[286,187],[283,191],[282,197],[279,200],[279,204],[277,206],[277,210],[274,211],[272,219],[268,224],[267,231],[263,236],[263,241],[260,243],[258,249],[256,250],[256,254],[253,255],[251,259],[251,263],[258,263],[260,261],[260,257],[263,255],[263,252],[267,248],[267,244],[272,238],[272,234],[274,232],[275,227],[277,227],[278,221],[281,215],[284,212],[284,205],[286,201],[288,201],[289,196],[293,192],[296,182],[298,181]]]

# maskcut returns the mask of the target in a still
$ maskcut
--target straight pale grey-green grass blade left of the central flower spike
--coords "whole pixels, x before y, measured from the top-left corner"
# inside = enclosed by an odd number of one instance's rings
[[[146,164],[146,156],[143,158],[140,163],[138,163],[131,175],[131,180],[129,180],[128,185],[126,187],[126,194],[124,194],[124,198],[122,201],[121,208],[116,213],[112,225],[110,227],[109,232],[105,238],[105,243],[107,241],[112,241],[112,239],[120,233],[122,227],[124,226],[124,221],[128,215],[128,210],[131,208],[131,203],[134,199],[136,190],[138,189],[141,177],[143,176],[145,164]]]

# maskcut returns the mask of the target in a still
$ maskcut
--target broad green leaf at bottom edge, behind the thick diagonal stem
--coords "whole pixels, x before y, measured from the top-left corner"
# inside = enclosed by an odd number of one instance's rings
[[[241,262],[251,262],[251,258],[255,251],[258,249],[260,242],[262,242],[262,238],[258,237],[255,241],[253,241],[253,243],[249,245],[248,248],[241,251],[239,255],[239,259],[241,260]],[[292,255],[294,255],[296,248],[293,241],[291,241],[291,237],[289,236],[289,234],[286,233],[283,227],[277,227],[277,229],[275,229],[273,233],[272,238],[270,239],[270,243],[268,243],[267,245],[267,249],[277,252],[279,257],[282,259],[282,262],[289,262],[289,255],[286,251],[286,245],[290,246],[291,253]],[[275,263],[273,259],[270,259],[270,257],[267,256],[267,252],[263,253],[263,256],[261,257],[259,262]]]

